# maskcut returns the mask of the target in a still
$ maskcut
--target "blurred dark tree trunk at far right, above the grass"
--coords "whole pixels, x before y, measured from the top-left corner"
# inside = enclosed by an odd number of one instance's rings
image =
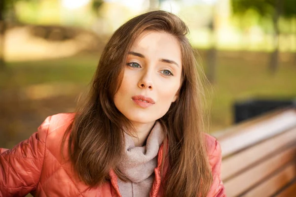
[[[275,12],[272,20],[273,28],[274,28],[274,33],[273,33],[274,45],[273,45],[273,51],[270,54],[270,63],[269,63],[269,71],[272,74],[275,74],[279,65],[279,34],[280,34],[279,18],[282,11],[282,5],[283,5],[282,0],[276,0]]]

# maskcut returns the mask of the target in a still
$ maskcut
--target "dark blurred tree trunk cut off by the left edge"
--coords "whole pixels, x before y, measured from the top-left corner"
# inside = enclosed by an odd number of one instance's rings
[[[0,0],[0,70],[5,67],[4,63],[4,35],[5,35],[5,21],[4,21],[4,0]]]

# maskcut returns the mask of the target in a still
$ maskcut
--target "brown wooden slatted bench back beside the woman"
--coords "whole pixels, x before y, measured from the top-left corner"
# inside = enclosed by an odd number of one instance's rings
[[[296,109],[213,134],[222,148],[227,197],[296,197]]]

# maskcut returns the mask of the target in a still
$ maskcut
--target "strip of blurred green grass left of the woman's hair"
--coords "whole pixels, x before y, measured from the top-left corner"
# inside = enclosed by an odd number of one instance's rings
[[[72,57],[36,62],[9,62],[7,70],[0,72],[0,87],[7,81],[22,87],[40,83],[72,82],[86,84],[92,77],[99,58]]]

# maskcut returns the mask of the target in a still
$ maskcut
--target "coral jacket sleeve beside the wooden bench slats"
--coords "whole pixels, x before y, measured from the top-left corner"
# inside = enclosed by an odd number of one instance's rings
[[[207,197],[226,197],[225,189],[221,180],[222,152],[219,142],[212,137],[210,142],[211,154],[209,161],[212,168],[213,184]]]

